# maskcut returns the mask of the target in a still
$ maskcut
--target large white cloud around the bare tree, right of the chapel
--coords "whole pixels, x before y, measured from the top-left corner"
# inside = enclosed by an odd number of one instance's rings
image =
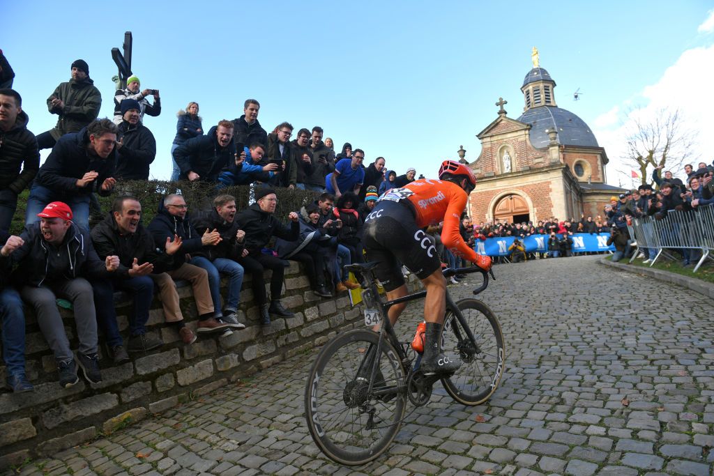
[[[710,19],[714,22],[714,16]],[[710,79],[713,76],[714,46],[686,50],[659,81],[645,86],[640,95],[631,100],[641,105],[639,109],[633,111],[628,107],[630,101],[626,101],[595,119],[595,137],[610,158],[608,183],[618,185],[619,176],[624,186],[628,183],[630,170],[636,166],[623,161],[627,153],[625,138],[628,129],[632,128],[635,114],[641,121],[648,121],[663,109],[678,109],[683,116],[683,126],[694,134],[695,145],[690,160],[711,163],[714,158],[714,95],[710,92]],[[630,111],[629,116],[627,111]],[[623,171],[626,177],[620,176],[618,171]]]

